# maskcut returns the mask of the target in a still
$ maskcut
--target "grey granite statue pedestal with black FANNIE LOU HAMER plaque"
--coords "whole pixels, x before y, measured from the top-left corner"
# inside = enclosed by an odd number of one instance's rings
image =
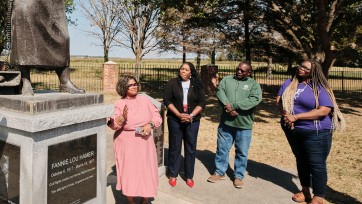
[[[100,94],[0,96],[0,201],[106,203],[106,118]]]

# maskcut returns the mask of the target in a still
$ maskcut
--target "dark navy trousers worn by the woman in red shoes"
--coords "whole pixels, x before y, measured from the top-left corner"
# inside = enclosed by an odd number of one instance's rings
[[[185,177],[192,179],[195,171],[196,143],[200,121],[181,123],[167,118],[168,125],[168,170],[169,176],[177,177],[181,163],[181,147],[184,141]]]

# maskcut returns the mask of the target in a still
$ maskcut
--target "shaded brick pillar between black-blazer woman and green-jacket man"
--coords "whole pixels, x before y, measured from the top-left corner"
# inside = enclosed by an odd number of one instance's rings
[[[214,94],[219,85],[218,66],[213,64],[201,66],[201,80],[206,94]]]

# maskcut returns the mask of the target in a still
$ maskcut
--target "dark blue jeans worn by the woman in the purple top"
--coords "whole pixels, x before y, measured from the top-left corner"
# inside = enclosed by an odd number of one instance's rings
[[[331,130],[291,130],[282,126],[296,158],[300,184],[310,187],[313,194],[325,197],[327,187],[327,157],[332,146]]]

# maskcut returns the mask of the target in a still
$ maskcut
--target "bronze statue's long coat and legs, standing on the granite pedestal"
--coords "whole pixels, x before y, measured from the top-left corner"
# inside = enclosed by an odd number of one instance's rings
[[[10,62],[21,72],[23,95],[34,95],[30,68],[55,70],[61,92],[84,93],[69,77],[69,33],[64,0],[13,1]]]

